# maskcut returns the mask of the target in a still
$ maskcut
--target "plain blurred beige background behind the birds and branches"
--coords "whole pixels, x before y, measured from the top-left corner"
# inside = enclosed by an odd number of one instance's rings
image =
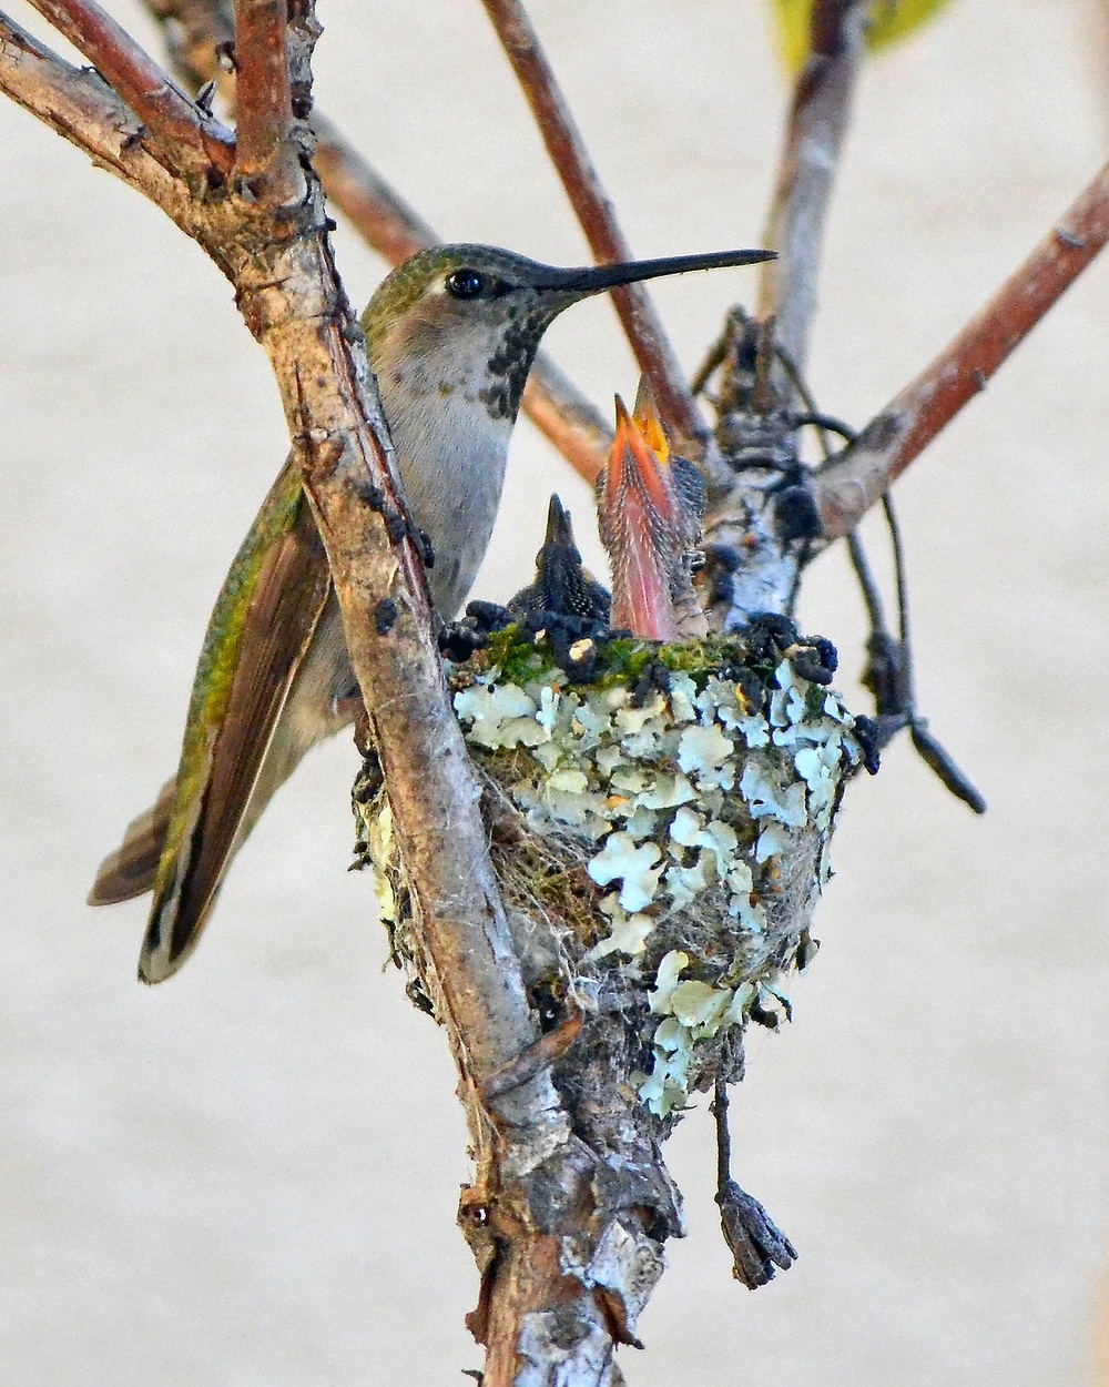
[[[134,7],[114,11],[150,35]],[[584,243],[477,4],[323,3],[317,100],[441,229]],[[756,0],[535,0],[638,254],[757,244],[786,93]],[[22,15],[21,15],[22,18]],[[828,245],[812,383],[865,422],[1103,160],[1098,7],[957,0],[873,64]],[[154,42],[152,39],[150,42]],[[195,960],[134,982],[140,903],[83,904],[176,761],[211,601],[286,441],[229,287],[161,214],[0,105],[0,1381],[459,1381],[477,1280],[442,1036],[383,972],[349,745],[237,860]],[[351,294],[383,269],[340,236]],[[742,270],[660,284],[692,368]],[[671,1144],[689,1237],[639,1387],[1092,1384],[1109,1264],[1109,262],[898,485],[919,698],[990,802],[898,743],[855,784],[796,1024],[754,1035],[736,1175],[800,1261],[729,1277],[701,1107]],[[611,309],[549,337],[603,406]],[[528,573],[528,427],[478,591]],[[875,552],[882,549],[875,530]],[[804,621],[861,667],[839,555]]]

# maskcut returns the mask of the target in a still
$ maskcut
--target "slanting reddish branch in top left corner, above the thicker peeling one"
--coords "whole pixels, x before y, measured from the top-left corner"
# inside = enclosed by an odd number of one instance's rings
[[[230,169],[229,130],[204,114],[96,0],[32,0],[141,121],[175,171]]]

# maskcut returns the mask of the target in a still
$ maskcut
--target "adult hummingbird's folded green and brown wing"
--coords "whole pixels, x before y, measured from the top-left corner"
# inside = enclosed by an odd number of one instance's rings
[[[323,542],[290,460],[208,624],[139,960],[144,982],[168,978],[195,946],[330,588]],[[157,806],[151,831],[155,816]]]

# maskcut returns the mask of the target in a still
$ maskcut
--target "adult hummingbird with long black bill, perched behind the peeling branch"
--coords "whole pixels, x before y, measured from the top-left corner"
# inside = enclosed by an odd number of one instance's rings
[[[753,265],[717,251],[560,269],[491,245],[437,245],[390,273],[362,315],[401,480],[451,620],[485,553],[524,383],[550,323],[584,298],[665,275]],[[359,696],[327,558],[290,456],[204,638],[176,778],[100,867],[90,904],[154,892],[139,978],[197,945],[227,865],[305,753]]]

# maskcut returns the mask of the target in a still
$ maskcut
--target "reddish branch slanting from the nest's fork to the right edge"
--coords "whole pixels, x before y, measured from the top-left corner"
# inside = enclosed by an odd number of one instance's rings
[[[1109,165],[981,312],[862,431],[819,469],[825,535],[853,530],[923,448],[1001,366],[1109,239]]]

